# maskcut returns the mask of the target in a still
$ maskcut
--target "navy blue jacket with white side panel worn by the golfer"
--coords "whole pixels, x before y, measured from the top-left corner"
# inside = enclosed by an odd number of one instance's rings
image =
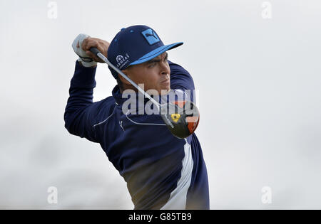
[[[191,90],[194,101],[193,78],[168,63],[170,88]],[[123,112],[127,99],[118,85],[111,97],[93,102],[95,73],[76,62],[64,113],[68,132],[101,144],[126,181],[135,209],[209,209],[208,175],[196,135],[178,139],[159,114],[135,114],[131,107]]]

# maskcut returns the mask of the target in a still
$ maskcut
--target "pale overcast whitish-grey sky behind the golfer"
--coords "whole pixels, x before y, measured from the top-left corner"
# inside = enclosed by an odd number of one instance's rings
[[[321,3],[0,0],[0,208],[132,209],[99,144],[68,134],[63,112],[78,33],[111,41],[144,24],[199,90],[210,208],[321,208]],[[94,100],[116,80],[98,65]],[[58,188],[58,203],[47,189]],[[272,203],[261,198],[272,189]]]

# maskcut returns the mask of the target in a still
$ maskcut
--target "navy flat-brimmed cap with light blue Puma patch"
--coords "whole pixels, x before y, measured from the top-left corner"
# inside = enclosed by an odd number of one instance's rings
[[[108,60],[124,70],[129,65],[138,65],[161,55],[166,50],[181,46],[183,42],[164,45],[153,28],[143,25],[122,28],[108,47]],[[114,78],[118,73],[108,66]]]

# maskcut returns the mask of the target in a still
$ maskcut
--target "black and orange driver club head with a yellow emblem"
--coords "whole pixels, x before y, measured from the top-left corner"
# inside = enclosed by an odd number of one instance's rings
[[[161,105],[161,117],[170,132],[179,139],[185,139],[193,134],[200,122],[198,107],[188,100]]]

